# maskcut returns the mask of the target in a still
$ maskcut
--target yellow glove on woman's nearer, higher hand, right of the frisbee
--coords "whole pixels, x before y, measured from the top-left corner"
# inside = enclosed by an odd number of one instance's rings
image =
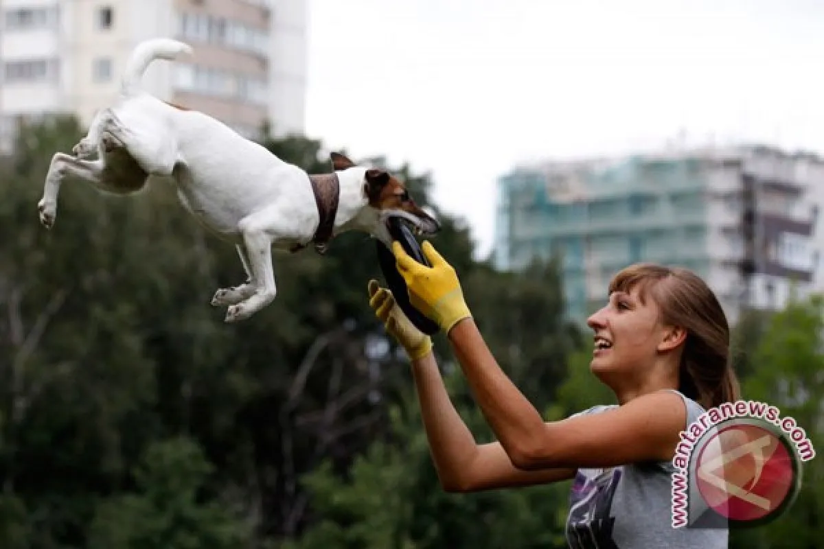
[[[410,258],[398,242],[392,242],[392,253],[395,254],[398,272],[406,282],[410,303],[448,334],[458,321],[472,314],[466,306],[461,282],[452,265],[438,254],[428,240],[424,241],[421,249],[431,268]]]

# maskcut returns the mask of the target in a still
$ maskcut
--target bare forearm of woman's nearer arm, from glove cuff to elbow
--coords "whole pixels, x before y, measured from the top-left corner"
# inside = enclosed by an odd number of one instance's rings
[[[501,370],[473,319],[457,323],[449,340],[501,445],[514,464],[527,463],[532,444],[542,440],[546,428],[541,414]]]

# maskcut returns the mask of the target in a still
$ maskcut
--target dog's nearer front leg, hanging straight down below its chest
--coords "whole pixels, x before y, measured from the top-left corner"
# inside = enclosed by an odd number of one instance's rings
[[[272,267],[272,220],[271,212],[263,210],[246,216],[240,223],[246,258],[251,271],[250,285],[254,293],[246,300],[231,305],[226,312],[226,322],[248,319],[274,301],[277,286]]]

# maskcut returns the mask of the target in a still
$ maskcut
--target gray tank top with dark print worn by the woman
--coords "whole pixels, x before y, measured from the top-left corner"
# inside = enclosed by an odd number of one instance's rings
[[[677,394],[686,404],[688,426],[705,410],[691,398]],[[574,416],[600,413],[616,406],[596,406]],[[578,469],[569,495],[566,523],[569,547],[726,549],[726,528],[672,528],[674,471],[669,461],[606,469]]]

